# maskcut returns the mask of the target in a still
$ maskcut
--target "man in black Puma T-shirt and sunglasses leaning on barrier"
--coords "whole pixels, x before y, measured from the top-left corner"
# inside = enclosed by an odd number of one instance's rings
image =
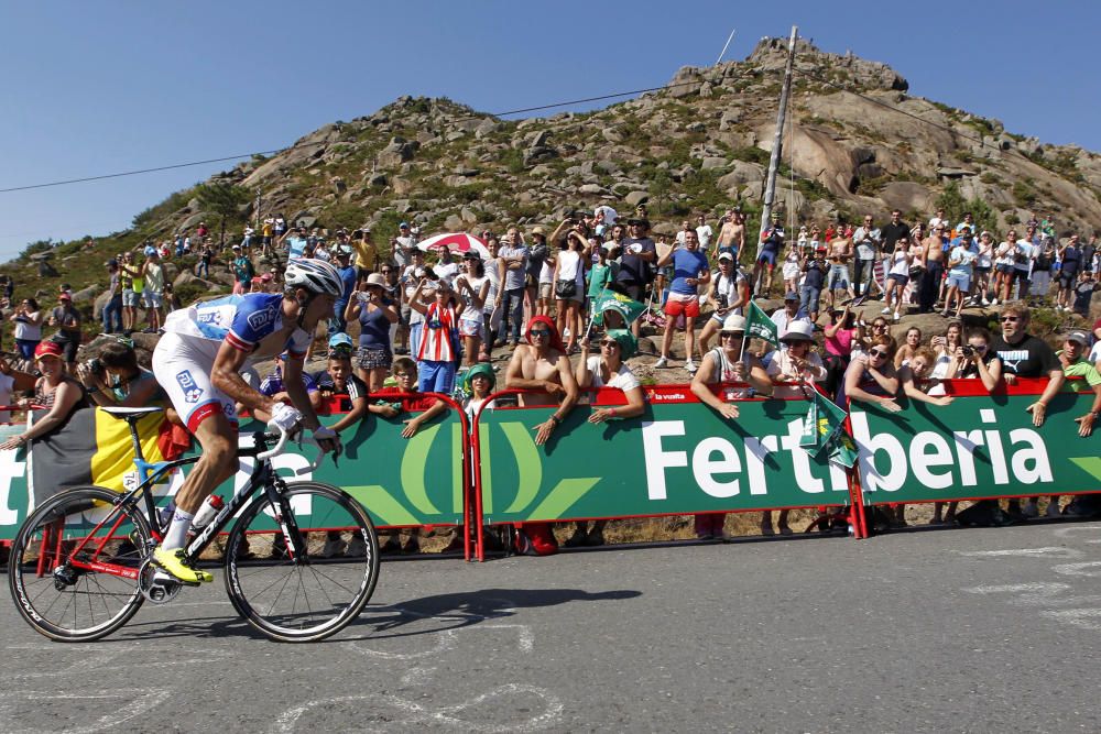
[[[994,339],[991,349],[1002,360],[1002,373],[1005,382],[1013,385],[1017,377],[1048,377],[1044,393],[1036,398],[1026,410],[1032,413],[1033,425],[1044,425],[1047,405],[1062,387],[1065,376],[1062,365],[1055,352],[1043,339],[1029,335],[1026,329],[1031,318],[1028,307],[1022,303],[1013,303],[1002,309],[999,319],[1002,322],[1002,335]],[[1053,499],[1058,505],[1058,496]],[[1025,517],[1039,515],[1039,497],[1031,497],[1023,508],[1016,500],[1010,501],[1011,513],[1020,512]]]

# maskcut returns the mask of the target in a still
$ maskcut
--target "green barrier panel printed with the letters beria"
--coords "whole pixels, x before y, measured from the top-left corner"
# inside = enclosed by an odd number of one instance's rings
[[[900,413],[853,402],[865,504],[1101,492],[1101,436],[1078,435],[1093,393],[1060,393],[1035,427],[1038,395],[911,401]]]

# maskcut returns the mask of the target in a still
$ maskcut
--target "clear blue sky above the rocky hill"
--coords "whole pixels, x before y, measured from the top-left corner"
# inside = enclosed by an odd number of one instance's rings
[[[911,92],[1101,150],[1091,2],[3,3],[0,188],[285,146],[403,94],[498,112],[659,86],[764,35],[885,62]],[[558,110],[552,110],[553,113]],[[0,260],[124,229],[232,163],[0,194]]]

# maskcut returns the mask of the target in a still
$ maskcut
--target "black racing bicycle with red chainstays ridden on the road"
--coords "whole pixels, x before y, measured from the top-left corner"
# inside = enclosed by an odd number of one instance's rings
[[[119,493],[66,489],[43,502],[12,541],[8,583],[23,618],[59,642],[89,642],[124,625],[144,602],[166,604],[186,584],[152,552],[171,521],[161,517],[153,485],[198,457],[149,463],[138,420],[161,408],[103,408],[130,426],[139,482]],[[247,443],[249,435],[241,436]],[[362,506],[338,487],[284,481],[272,458],[285,432],[252,435],[238,456],[254,460],[244,485],[188,540],[199,563],[219,534],[226,592],[250,625],[280,642],[316,642],[359,615],[379,578],[379,540]],[[274,446],[272,443],[274,442]],[[271,448],[269,448],[271,447]],[[319,453],[314,468],[324,454]]]

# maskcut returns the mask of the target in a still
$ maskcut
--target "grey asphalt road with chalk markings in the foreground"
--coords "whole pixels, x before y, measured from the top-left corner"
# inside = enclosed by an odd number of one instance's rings
[[[1101,525],[386,562],[335,639],[214,584],[87,645],[0,604],[6,732],[1101,731]]]

